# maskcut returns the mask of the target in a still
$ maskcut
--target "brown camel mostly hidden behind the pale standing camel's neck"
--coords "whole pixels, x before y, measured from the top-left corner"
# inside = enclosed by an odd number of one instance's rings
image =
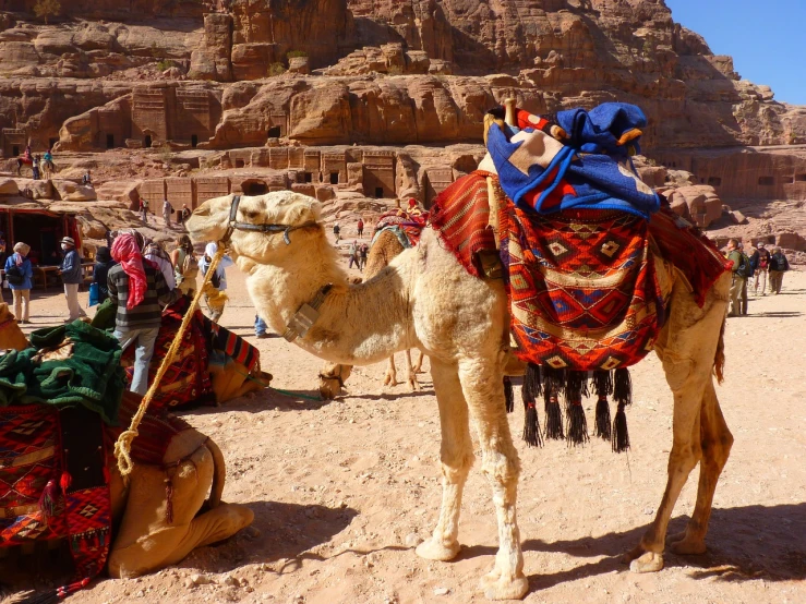
[[[364,267],[364,280],[372,279],[381,270],[388,266],[392,258],[400,254],[406,247],[402,246],[400,240],[389,230],[383,230],[377,239],[370,247],[370,255],[366,258]],[[411,350],[406,350],[406,369],[408,377],[406,383],[411,391],[418,391],[420,384],[417,380],[417,374],[422,370],[422,361],[425,355],[420,351],[420,359],[416,365],[411,363]],[[345,385],[347,376],[352,372],[351,366],[340,365],[338,363],[325,363],[320,371],[320,395],[324,400],[334,399],[341,387]],[[397,386],[397,367],[395,367],[395,355],[389,355],[389,364],[384,375],[384,386]]]

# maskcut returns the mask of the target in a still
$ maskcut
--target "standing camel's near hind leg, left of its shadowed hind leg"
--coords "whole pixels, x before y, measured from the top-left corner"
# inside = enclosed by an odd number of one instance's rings
[[[655,572],[663,568],[663,547],[669,520],[677,497],[688,480],[688,474],[702,456],[700,408],[706,379],[711,379],[710,371],[696,371],[691,361],[677,363],[664,361],[663,369],[674,392],[673,443],[669,454],[669,478],[654,521],[647,529],[640,543],[625,556],[625,561],[630,563],[629,569],[634,572]]]

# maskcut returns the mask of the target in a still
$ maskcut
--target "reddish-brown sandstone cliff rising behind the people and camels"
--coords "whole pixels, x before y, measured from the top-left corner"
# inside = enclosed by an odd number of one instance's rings
[[[649,118],[645,153],[691,172],[689,184],[723,198],[806,194],[801,152],[736,150],[806,144],[806,108],[741,80],[663,0],[75,0],[47,26],[29,0],[0,5],[14,11],[0,12],[7,158],[56,142],[75,152],[478,143],[484,112],[508,96],[536,113],[622,100]],[[702,147],[733,150],[707,158]],[[467,171],[443,165],[413,183],[404,168],[396,191],[419,195]],[[339,168],[340,186],[363,168],[351,170]],[[645,172],[655,185],[674,180]]]

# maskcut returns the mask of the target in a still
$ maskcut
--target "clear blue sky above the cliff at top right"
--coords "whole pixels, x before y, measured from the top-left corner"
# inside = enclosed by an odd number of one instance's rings
[[[665,0],[736,72],[767,84],[775,100],[806,105],[806,0]]]

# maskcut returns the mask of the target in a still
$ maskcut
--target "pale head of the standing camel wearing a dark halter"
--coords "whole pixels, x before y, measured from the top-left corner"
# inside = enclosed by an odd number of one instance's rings
[[[230,226],[234,195],[207,200],[185,222],[194,242],[220,241]],[[292,191],[240,197],[229,249],[233,258],[243,256],[258,264],[276,264],[299,246],[288,240],[301,240],[311,232],[324,234],[318,225],[322,204]]]

